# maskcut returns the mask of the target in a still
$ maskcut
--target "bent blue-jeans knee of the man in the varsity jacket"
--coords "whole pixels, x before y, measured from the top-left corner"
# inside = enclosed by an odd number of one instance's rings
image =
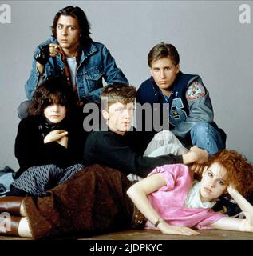
[[[192,144],[208,151],[208,154],[215,154],[225,148],[225,142],[221,134],[208,122],[200,122],[191,130]]]

